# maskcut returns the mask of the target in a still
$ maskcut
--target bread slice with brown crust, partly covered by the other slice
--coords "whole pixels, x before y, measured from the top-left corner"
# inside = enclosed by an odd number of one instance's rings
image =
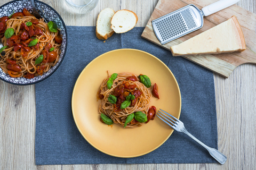
[[[113,35],[114,31],[110,28],[110,21],[114,14],[115,11],[111,8],[105,8],[99,13],[96,24],[96,37],[98,39],[106,40]]]

